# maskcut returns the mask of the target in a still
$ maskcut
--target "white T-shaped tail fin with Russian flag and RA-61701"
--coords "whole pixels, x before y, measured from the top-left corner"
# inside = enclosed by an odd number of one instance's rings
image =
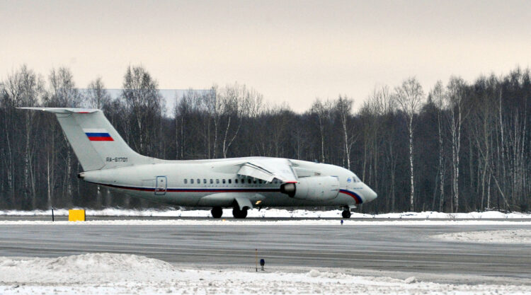
[[[98,170],[149,163],[151,158],[133,151],[101,110],[81,108],[21,108],[53,112],[83,166]]]

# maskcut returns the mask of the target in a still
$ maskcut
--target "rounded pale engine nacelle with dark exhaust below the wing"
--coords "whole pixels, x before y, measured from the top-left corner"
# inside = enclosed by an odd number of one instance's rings
[[[339,180],[333,176],[312,176],[299,178],[298,183],[285,183],[280,192],[295,199],[324,201],[333,199],[339,193]]]

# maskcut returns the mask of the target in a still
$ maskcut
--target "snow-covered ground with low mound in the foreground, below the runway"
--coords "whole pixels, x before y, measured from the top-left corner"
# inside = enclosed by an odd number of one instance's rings
[[[137,255],[0,258],[0,294],[530,294],[513,284],[440,284],[414,277],[190,269]]]

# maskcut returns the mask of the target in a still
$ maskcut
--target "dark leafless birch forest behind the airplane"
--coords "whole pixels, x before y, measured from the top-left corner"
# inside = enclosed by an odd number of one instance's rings
[[[269,105],[234,83],[185,93],[166,116],[156,80],[127,69],[118,98],[101,78],[84,91],[69,69],[27,66],[0,81],[0,208],[154,207],[84,183],[55,116],[21,106],[100,108],[132,149],[166,159],[272,156],[353,170],[379,195],[363,212],[527,211],[531,196],[528,69],[451,77],[424,91],[415,78],[353,98],[314,100],[304,113]]]

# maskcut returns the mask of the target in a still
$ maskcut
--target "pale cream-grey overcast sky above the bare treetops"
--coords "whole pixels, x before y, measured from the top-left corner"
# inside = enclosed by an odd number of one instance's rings
[[[76,86],[120,88],[142,64],[160,88],[244,83],[304,111],[360,105],[409,76],[507,74],[531,59],[531,1],[4,1],[0,78],[69,67]]]

